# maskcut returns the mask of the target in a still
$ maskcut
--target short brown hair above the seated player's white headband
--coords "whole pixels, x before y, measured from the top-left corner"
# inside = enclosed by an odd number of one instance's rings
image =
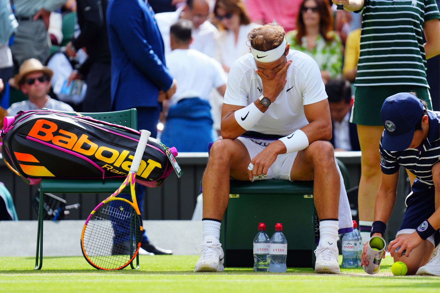
[[[248,33],[248,41],[252,48],[266,52],[281,45],[285,34],[282,26],[266,24],[251,30]]]

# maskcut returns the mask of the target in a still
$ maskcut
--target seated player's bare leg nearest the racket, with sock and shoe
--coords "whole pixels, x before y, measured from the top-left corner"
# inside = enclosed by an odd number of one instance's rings
[[[203,242],[194,271],[224,271],[224,252],[219,241],[220,221],[229,200],[229,178],[249,180],[250,156],[241,141],[216,141],[203,174]]]

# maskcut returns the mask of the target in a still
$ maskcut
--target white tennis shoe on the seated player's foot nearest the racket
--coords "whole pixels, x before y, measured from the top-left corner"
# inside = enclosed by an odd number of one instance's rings
[[[195,263],[194,272],[224,271],[224,252],[218,239],[206,237],[203,239],[203,244],[198,245],[196,250],[201,251],[201,254],[200,259]]]

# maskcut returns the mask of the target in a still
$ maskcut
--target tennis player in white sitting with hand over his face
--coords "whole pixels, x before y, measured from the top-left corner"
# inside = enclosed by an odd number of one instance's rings
[[[276,22],[253,29],[248,34],[251,52],[231,67],[222,108],[223,140],[213,144],[203,175],[204,239],[194,271],[224,271],[220,223],[231,177],[315,180],[320,219],[315,271],[341,273],[336,246],[341,181],[327,141],[332,133],[327,95],[316,62],[289,50],[284,34]]]

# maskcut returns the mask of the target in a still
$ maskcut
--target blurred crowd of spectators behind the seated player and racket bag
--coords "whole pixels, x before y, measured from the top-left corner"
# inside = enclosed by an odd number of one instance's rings
[[[117,8],[122,12],[108,15],[109,2],[123,5]],[[227,75],[232,63],[249,53],[247,34],[275,20],[286,30],[290,48],[311,56],[321,70],[335,148],[359,150],[349,117],[360,13],[337,11],[329,0],[149,0],[145,7],[160,36],[144,38],[146,49],[136,45],[136,37],[147,31],[135,23],[136,9],[123,13],[133,1],[117,2],[0,0],[3,115],[40,108],[137,108],[139,128],[157,125],[155,136],[165,144],[183,152],[207,151],[207,142],[221,135]],[[132,67],[125,66],[127,60]],[[349,137],[338,135],[347,128]]]

